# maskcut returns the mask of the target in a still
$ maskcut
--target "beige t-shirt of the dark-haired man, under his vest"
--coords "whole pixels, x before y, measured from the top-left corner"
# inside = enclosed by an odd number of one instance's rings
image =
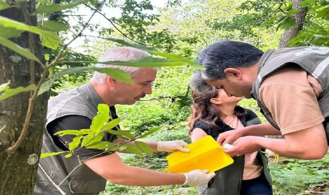
[[[289,65],[265,78],[259,97],[285,135],[324,121],[316,99],[321,92],[313,76],[298,65]]]

